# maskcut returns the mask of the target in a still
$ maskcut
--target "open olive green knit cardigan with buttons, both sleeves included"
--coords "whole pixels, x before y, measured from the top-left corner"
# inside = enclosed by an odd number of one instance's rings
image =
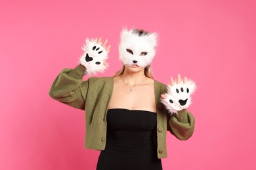
[[[85,110],[85,148],[104,150],[106,144],[106,112],[114,87],[113,77],[88,78],[83,81],[85,67],[77,65],[75,69],[63,69],[55,78],[49,95],[61,103]],[[166,158],[166,133],[186,140],[194,132],[194,117],[188,110],[179,111],[170,116],[160,103],[160,95],[166,91],[166,85],[154,81],[156,96],[157,127],[155,140],[158,158]]]

